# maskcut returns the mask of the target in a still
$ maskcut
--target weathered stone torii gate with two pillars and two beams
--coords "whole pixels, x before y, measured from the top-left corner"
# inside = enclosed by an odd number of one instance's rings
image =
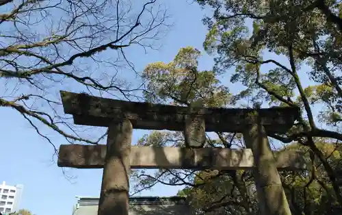
[[[108,127],[107,145],[64,144],[58,157],[61,167],[104,168],[98,215],[128,215],[131,168],[252,169],[261,212],[291,214],[277,168],[304,168],[302,153],[272,153],[267,133],[291,128],[300,116],[298,108],[187,108],[65,91],[61,97],[75,124]],[[131,147],[133,129],[184,131],[190,148]],[[205,131],[242,133],[249,149],[199,148]]]

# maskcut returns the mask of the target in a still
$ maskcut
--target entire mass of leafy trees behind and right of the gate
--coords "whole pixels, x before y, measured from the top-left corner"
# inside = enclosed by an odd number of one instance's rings
[[[341,3],[197,2],[214,10],[203,18],[208,27],[203,46],[215,58],[213,69],[199,70],[200,51],[192,47],[181,49],[168,64],[149,64],[146,101],[299,107],[302,115],[287,134],[267,134],[277,149],[306,153],[307,170],[280,171],[291,212],[341,213]],[[153,131],[139,144],[183,146],[184,140],[180,132]],[[208,134],[206,147],[237,148],[244,142],[241,134]],[[197,214],[259,213],[248,170],[137,171],[133,178],[140,180],[137,190],[157,183],[186,186],[179,194]]]

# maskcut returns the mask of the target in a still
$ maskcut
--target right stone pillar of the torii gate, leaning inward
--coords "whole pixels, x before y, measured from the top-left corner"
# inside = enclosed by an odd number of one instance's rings
[[[276,160],[269,147],[263,125],[255,123],[247,126],[244,131],[244,141],[246,147],[252,149],[254,156],[256,168],[253,173],[261,214],[291,215],[276,168]]]

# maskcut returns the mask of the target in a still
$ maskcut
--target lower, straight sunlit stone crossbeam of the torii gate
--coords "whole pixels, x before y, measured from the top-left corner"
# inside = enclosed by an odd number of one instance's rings
[[[64,144],[60,146],[58,166],[72,168],[103,168],[106,145]],[[189,168],[236,170],[254,167],[250,149],[132,146],[131,168]],[[298,151],[276,152],[277,167],[300,170],[305,168],[303,154]]]

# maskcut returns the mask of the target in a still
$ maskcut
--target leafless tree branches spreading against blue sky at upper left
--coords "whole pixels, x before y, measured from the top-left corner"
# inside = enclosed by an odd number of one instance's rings
[[[157,0],[0,1],[0,107],[12,108],[53,145],[40,125],[68,142],[98,144],[106,133],[87,134],[64,116],[59,91],[70,87],[129,99],[140,90],[126,75],[124,51],[153,48],[168,29]],[[128,64],[128,66],[127,66]],[[86,134],[86,136],[84,135]],[[57,149],[53,145],[53,150]]]

